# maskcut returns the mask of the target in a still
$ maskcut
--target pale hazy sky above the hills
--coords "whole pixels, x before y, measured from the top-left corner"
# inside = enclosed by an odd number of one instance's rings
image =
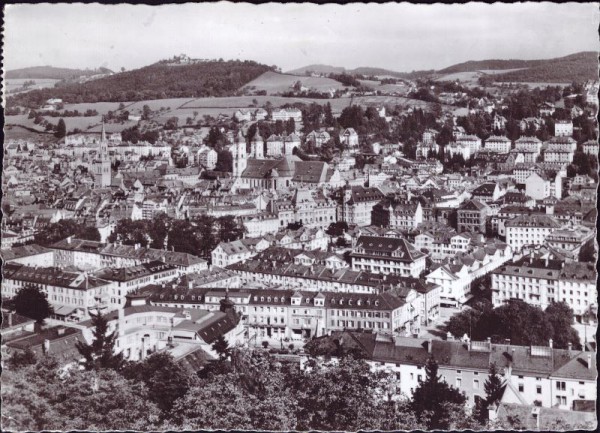
[[[5,70],[139,68],[178,54],[400,72],[598,51],[597,3],[25,4],[5,7]]]

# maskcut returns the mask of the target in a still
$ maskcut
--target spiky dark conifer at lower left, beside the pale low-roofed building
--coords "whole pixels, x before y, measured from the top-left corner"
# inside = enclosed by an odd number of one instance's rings
[[[92,331],[94,340],[92,344],[77,342],[77,350],[85,358],[85,368],[87,370],[114,369],[120,370],[123,367],[123,354],[114,353],[115,342],[117,340],[117,330],[108,332],[108,320],[102,313],[93,314]]]

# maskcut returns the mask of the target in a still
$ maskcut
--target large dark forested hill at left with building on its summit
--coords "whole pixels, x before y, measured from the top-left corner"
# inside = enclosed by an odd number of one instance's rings
[[[9,107],[39,107],[49,98],[66,103],[127,102],[148,99],[233,96],[272,67],[253,61],[205,61],[170,65],[159,62],[82,84],[59,83],[52,89],[32,90],[7,100]]]

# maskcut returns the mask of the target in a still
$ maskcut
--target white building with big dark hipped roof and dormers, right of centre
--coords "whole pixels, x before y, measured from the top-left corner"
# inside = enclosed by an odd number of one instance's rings
[[[425,271],[426,254],[406,239],[360,236],[350,254],[352,269],[417,278]]]

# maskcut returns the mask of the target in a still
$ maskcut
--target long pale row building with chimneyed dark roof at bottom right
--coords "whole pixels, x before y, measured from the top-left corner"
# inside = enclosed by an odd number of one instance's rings
[[[383,337],[375,333],[340,331],[315,341],[342,344],[345,351],[361,353],[372,371],[387,372],[394,378],[398,394],[411,398],[425,380],[425,365],[433,357],[440,380],[464,393],[473,407],[485,398],[489,367],[495,364],[502,377],[503,403],[530,407],[573,410],[578,400],[596,400],[596,354],[549,346],[516,346],[491,341],[444,341]],[[333,353],[327,355],[335,356]]]

